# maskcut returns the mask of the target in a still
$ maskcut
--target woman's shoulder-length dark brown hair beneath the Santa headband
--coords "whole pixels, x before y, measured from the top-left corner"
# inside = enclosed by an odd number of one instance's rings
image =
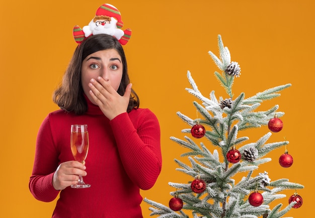
[[[82,61],[90,54],[106,49],[115,49],[121,56],[123,73],[117,92],[124,95],[127,85],[130,83],[127,70],[127,61],[122,45],[118,40],[107,34],[90,36],[77,46],[72,59],[63,75],[62,83],[53,93],[53,101],[63,110],[82,115],[87,112],[88,105],[84,97],[81,82]],[[131,89],[131,95],[127,112],[139,107],[139,98],[136,92]]]

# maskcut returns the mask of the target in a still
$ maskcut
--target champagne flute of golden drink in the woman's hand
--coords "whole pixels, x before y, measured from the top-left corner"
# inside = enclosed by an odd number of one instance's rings
[[[84,163],[89,151],[88,125],[71,125],[71,152],[74,160]],[[71,185],[71,188],[89,188],[91,185],[83,181],[79,176],[78,183]]]

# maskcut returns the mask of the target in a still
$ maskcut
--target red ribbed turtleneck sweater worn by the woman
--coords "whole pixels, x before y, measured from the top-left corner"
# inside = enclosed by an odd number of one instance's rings
[[[58,196],[51,182],[53,173],[60,163],[74,160],[70,126],[87,124],[90,146],[84,181],[91,187],[60,191],[52,217],[142,217],[139,189],[151,188],[162,167],[159,122],[142,108],[109,121],[97,105],[87,101],[84,115],[58,110],[43,121],[29,188],[41,201]]]

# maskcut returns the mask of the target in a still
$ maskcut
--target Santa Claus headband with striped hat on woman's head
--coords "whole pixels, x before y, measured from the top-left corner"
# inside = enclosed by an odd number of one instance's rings
[[[104,4],[96,11],[89,26],[84,26],[82,29],[77,25],[74,26],[73,37],[76,43],[81,44],[89,36],[108,34],[115,37],[120,44],[126,45],[131,37],[131,30],[121,30],[123,24],[118,9],[110,4]]]

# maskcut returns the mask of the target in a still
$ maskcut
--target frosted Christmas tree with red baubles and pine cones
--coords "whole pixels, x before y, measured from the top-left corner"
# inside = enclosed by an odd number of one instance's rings
[[[216,98],[214,91],[210,98],[202,95],[188,71],[187,77],[192,88],[186,90],[197,97],[202,104],[194,101],[197,113],[201,118],[191,119],[178,112],[177,115],[191,128],[182,130],[188,134],[185,140],[171,137],[189,151],[181,156],[187,156],[190,165],[177,159],[180,166],[176,170],[192,177],[187,183],[169,182],[176,190],[169,206],[144,198],[152,205],[150,215],[158,217],[189,217],[185,212],[190,212],[194,218],[275,218],[283,217],[292,207],[302,205],[302,198],[296,192],[286,199],[284,208],[282,203],[270,208],[274,200],[286,197],[280,192],[285,189],[301,189],[303,185],[289,182],[282,178],[271,181],[268,172],[258,172],[259,165],[271,161],[265,157],[274,149],[285,146],[288,141],[267,143],[272,133],[281,131],[283,123],[280,118],[283,112],[278,112],[279,105],[267,111],[257,111],[264,100],[280,96],[279,91],[291,86],[280,85],[269,88],[256,95],[245,98],[245,93],[233,97],[232,85],[235,77],[240,77],[241,68],[238,62],[231,61],[227,47],[223,46],[221,36],[218,36],[219,57],[209,51],[209,55],[220,69],[221,73],[214,72],[215,77],[224,87],[228,98]],[[271,132],[263,135],[257,142],[247,143],[249,137],[239,137],[239,131],[248,131],[261,126],[268,126]],[[204,138],[206,142],[200,145],[193,138]],[[209,143],[211,146],[208,146]],[[209,150],[214,149],[212,152]],[[236,149],[238,148],[238,149]],[[280,156],[279,163],[282,167],[290,167],[293,158],[286,152]],[[233,179],[237,174],[243,173],[240,181]],[[241,174],[242,175],[242,174]]]

